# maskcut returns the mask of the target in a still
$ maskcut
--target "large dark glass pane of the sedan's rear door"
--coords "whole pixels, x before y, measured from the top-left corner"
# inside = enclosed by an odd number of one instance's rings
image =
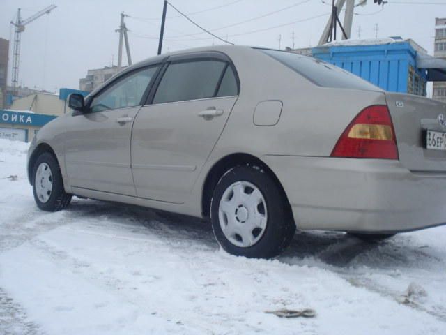
[[[153,103],[212,98],[226,64],[218,60],[181,61],[170,64],[157,88]]]

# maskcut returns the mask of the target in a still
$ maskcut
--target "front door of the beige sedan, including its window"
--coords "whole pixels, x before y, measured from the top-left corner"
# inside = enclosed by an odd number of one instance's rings
[[[132,124],[157,68],[121,75],[87,102],[86,112],[73,112],[65,144],[72,187],[136,195],[130,168]]]

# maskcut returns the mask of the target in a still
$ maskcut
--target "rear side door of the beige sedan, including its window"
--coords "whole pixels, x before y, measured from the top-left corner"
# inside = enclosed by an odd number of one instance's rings
[[[237,78],[230,60],[216,52],[164,65],[133,127],[138,197],[184,202],[238,98]]]

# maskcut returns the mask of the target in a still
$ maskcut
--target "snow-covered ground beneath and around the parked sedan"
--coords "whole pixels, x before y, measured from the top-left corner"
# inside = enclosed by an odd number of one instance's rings
[[[276,260],[236,258],[197,218],[38,210],[26,149],[0,140],[0,334],[446,334],[445,227],[380,244],[300,232]],[[278,308],[317,316],[264,313]]]

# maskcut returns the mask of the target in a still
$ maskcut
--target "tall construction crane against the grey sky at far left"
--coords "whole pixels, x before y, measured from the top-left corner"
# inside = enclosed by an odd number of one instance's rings
[[[11,24],[15,27],[14,31],[14,51],[13,51],[13,94],[17,94],[17,89],[19,87],[19,64],[20,64],[20,34],[25,30],[26,24],[37,20],[44,14],[49,14],[56,5],[48,6],[47,8],[40,10],[40,12],[28,17],[26,20],[22,20],[20,15],[20,8],[17,10],[17,18],[15,22],[11,21]]]

